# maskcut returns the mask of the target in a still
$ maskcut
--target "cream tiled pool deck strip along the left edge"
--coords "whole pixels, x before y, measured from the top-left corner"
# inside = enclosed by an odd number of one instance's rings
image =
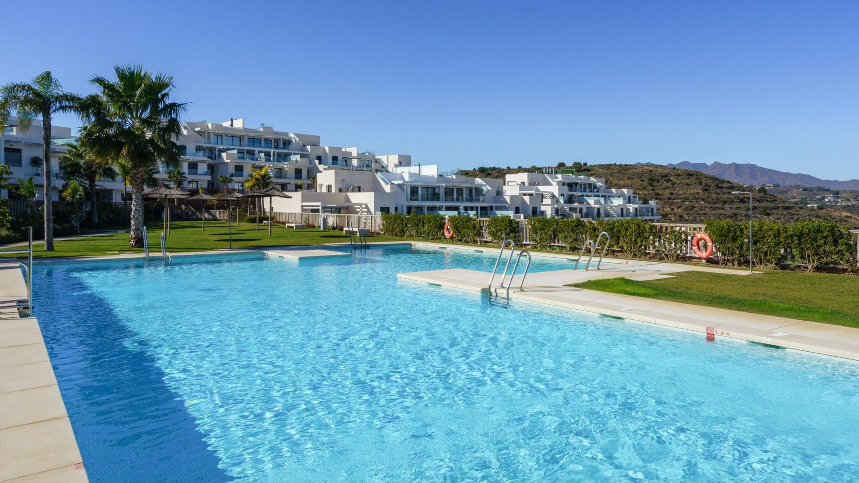
[[[0,263],[0,302],[26,299],[18,263]],[[35,317],[0,310],[0,481],[88,481]]]

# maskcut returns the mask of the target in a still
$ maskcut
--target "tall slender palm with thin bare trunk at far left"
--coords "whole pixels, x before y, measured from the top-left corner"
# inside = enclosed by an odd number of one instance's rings
[[[51,205],[51,118],[56,112],[78,112],[81,98],[63,91],[63,86],[50,70],[36,75],[33,82],[10,82],[0,88],[0,125],[9,120],[12,112],[18,117],[18,126],[27,131],[37,116],[42,117],[42,172],[45,185],[45,250],[53,251],[53,207]]]

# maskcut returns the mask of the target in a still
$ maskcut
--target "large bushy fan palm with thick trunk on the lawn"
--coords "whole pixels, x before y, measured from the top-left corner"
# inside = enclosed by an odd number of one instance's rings
[[[116,81],[95,76],[101,94],[82,103],[88,146],[100,157],[131,170],[129,244],[143,246],[143,188],[158,162],[179,166],[182,154],[174,141],[182,132],[179,116],[185,104],[170,101],[173,77],[153,75],[139,65],[116,66]]]

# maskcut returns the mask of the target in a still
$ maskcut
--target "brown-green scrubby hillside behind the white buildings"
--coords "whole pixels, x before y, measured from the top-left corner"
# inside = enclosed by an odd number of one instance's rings
[[[460,174],[503,178],[508,173],[534,171],[539,171],[539,168],[480,167],[460,171]],[[703,172],[660,165],[594,165],[584,166],[578,173],[605,178],[610,188],[632,188],[642,201],[657,200],[661,205],[662,221],[701,223],[713,218],[748,219],[748,198],[731,194],[731,191],[746,190],[746,187]],[[755,216],[770,220],[792,222],[826,218],[859,226],[856,214],[838,208],[809,208],[771,194],[756,193],[754,208]]]

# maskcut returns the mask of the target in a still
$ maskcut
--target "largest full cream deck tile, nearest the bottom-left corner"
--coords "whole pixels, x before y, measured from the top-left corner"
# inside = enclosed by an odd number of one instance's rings
[[[82,463],[69,418],[0,430],[0,481]]]

